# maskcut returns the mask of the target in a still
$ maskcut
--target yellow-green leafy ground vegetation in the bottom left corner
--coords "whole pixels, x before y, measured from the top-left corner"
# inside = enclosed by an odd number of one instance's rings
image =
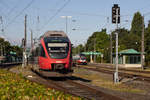
[[[82,100],[0,69],[0,100]]]

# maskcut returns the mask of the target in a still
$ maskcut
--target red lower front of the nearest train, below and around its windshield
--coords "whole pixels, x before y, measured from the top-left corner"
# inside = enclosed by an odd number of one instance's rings
[[[49,46],[51,46],[49,44]],[[52,48],[51,48],[52,49]],[[49,54],[48,44],[41,39],[41,44],[37,47],[38,67],[40,74],[50,77],[59,76],[71,76],[73,70],[72,67],[72,51],[71,43],[68,42],[67,56],[63,59],[52,58],[52,54]]]

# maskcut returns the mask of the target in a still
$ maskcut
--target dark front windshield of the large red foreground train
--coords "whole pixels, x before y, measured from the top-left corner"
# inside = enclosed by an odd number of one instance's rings
[[[68,38],[47,38],[45,39],[46,48],[51,58],[63,59],[66,58],[69,51]]]

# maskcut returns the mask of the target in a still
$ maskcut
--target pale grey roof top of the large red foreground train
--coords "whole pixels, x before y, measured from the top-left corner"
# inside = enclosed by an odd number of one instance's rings
[[[45,38],[45,37],[67,37],[67,35],[63,31],[47,31],[40,38]]]

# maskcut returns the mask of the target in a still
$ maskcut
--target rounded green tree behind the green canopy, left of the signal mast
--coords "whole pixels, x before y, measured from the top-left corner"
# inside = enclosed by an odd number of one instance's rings
[[[102,29],[100,32],[94,32],[87,40],[87,51],[101,52],[104,54],[104,61],[109,62],[109,35],[106,33],[106,29]],[[100,61],[100,56],[97,57]]]

